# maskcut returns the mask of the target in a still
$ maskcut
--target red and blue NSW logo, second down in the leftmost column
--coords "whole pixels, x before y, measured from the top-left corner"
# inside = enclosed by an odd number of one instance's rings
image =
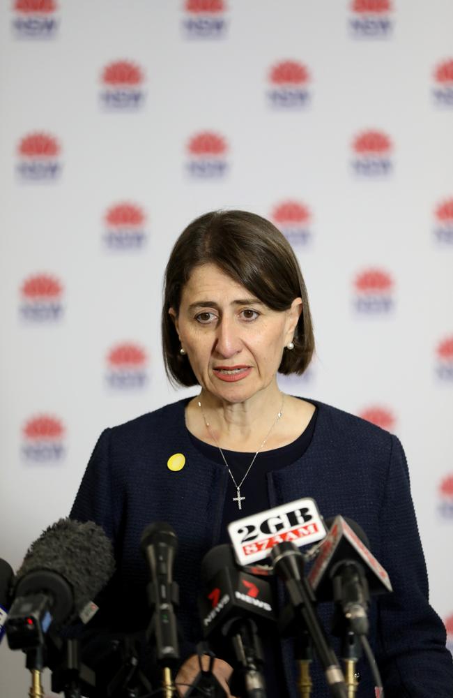
[[[61,174],[61,147],[53,135],[34,131],[20,140],[17,147],[17,174],[22,181],[55,181]]]

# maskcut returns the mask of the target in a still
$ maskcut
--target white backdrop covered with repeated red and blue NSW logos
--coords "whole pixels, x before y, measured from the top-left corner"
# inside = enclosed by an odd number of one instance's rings
[[[192,218],[243,208],[312,303],[316,359],[282,387],[403,442],[453,646],[451,1],[0,8],[1,556],[68,514],[105,426],[183,396],[164,265]],[[22,654],[0,662],[27,690]]]

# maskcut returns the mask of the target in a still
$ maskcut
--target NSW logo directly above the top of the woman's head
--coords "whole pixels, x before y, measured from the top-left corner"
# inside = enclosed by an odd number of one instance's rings
[[[228,169],[227,141],[213,131],[195,133],[187,143],[186,163],[190,177],[217,179],[224,177]]]

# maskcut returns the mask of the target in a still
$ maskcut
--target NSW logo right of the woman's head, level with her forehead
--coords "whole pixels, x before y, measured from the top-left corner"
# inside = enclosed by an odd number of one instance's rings
[[[383,269],[365,269],[354,280],[354,306],[358,313],[383,315],[394,306],[393,281]]]

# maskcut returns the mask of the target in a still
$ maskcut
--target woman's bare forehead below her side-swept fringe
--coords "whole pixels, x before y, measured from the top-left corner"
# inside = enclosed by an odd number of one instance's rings
[[[183,302],[224,297],[249,298],[254,294],[214,264],[195,267],[183,288]]]

